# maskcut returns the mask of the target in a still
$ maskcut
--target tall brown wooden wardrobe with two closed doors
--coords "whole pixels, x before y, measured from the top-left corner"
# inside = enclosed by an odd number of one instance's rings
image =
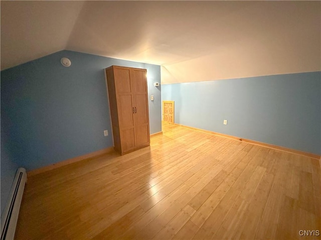
[[[114,148],[120,154],[149,145],[146,69],[106,68]]]

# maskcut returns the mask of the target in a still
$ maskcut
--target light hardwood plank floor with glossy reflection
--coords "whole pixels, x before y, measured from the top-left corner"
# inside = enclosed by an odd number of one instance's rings
[[[163,132],[150,147],[29,177],[16,239],[320,239],[298,233],[321,231],[318,160]]]

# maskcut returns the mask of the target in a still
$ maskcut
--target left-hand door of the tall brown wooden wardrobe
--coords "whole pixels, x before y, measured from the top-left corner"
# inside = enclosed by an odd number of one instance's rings
[[[135,148],[132,81],[128,68],[115,67],[114,77],[121,152],[123,153]]]

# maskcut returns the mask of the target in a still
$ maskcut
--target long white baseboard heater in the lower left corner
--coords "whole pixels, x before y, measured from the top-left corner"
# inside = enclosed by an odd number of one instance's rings
[[[9,193],[7,205],[1,215],[1,240],[11,240],[15,237],[20,204],[26,181],[26,169],[22,167],[18,168]]]

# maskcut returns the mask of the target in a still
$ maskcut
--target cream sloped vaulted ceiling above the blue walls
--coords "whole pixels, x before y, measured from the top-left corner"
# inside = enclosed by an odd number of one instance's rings
[[[68,49],[162,82],[321,70],[320,1],[1,1],[1,69]]]

